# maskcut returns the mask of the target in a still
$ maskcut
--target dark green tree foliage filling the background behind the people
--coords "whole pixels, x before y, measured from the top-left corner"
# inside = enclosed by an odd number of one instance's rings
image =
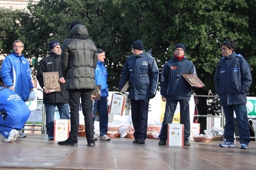
[[[133,41],[143,40],[146,51],[152,48],[160,72],[174,46],[183,43],[206,85],[198,93],[207,94],[209,89],[214,92],[214,71],[226,39],[236,41],[236,52],[248,60],[255,77],[255,4],[256,0],[41,0],[19,15],[0,9],[0,20],[8,21],[0,22],[0,35],[6,35],[5,39],[1,36],[0,47],[8,53],[13,37],[22,38],[28,57],[45,57],[49,41],[63,43],[70,22],[80,20],[97,47],[108,50],[109,90],[117,90]],[[253,83],[250,96],[254,93]]]

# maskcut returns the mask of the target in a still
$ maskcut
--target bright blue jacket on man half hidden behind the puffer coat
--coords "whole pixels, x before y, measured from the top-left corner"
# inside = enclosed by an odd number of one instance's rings
[[[101,85],[100,97],[108,97],[108,71],[104,66],[104,62],[97,61],[95,68],[95,82],[96,85]]]

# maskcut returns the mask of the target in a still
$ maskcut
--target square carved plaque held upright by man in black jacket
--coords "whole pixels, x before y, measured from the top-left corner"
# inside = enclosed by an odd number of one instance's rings
[[[60,83],[59,83],[59,72],[45,72],[43,73],[44,77],[44,89],[45,91],[51,90],[51,92],[60,92]]]

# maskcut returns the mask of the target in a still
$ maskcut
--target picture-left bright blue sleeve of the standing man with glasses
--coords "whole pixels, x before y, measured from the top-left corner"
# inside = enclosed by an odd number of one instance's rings
[[[4,82],[4,85],[6,85],[7,87],[13,87],[11,71],[12,71],[12,63],[10,59],[5,58],[3,60],[2,67],[1,67],[1,78]]]

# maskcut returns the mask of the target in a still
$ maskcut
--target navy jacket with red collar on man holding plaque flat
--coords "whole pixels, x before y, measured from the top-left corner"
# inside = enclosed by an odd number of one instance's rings
[[[182,74],[196,74],[195,66],[186,57],[179,61],[173,56],[163,67],[161,96],[173,100],[190,99],[192,87]]]

